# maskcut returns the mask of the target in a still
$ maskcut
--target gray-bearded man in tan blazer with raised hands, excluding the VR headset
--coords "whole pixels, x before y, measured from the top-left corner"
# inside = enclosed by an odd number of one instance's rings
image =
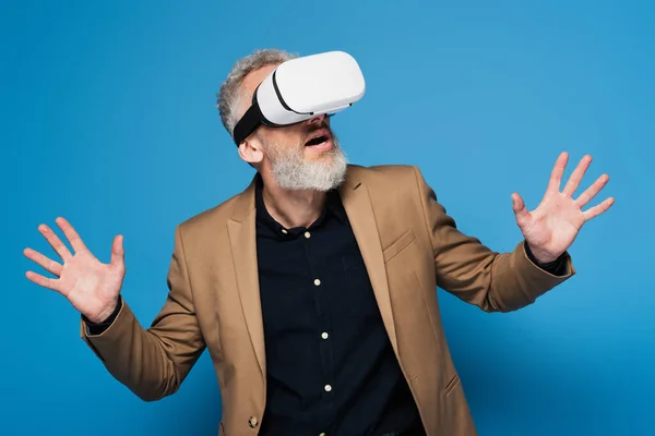
[[[218,96],[230,135],[258,85],[293,57],[260,50]],[[63,261],[26,250],[82,314],[82,338],[145,401],[174,393],[206,348],[223,396],[219,434],[474,435],[440,322],[436,287],[487,312],[533,303],[574,274],[567,252],[582,211],[607,183],[573,198],[591,158],[560,191],[562,154],[540,205],[513,194],[523,232],[511,253],[461,233],[417,168],[347,165],[330,119],[260,125],[238,144],[257,169],[239,195],[175,232],[169,293],[148,329],[120,290],[122,238],[100,264],[70,223],[40,232]]]

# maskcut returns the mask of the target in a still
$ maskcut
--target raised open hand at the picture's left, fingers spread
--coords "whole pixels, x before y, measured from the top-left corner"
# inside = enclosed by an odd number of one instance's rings
[[[25,249],[24,254],[28,259],[57,278],[47,278],[34,271],[27,271],[25,276],[36,284],[61,293],[92,323],[102,323],[114,313],[126,275],[122,237],[114,239],[111,262],[103,264],[86,249],[75,229],[66,219],[57,218],[56,222],[67,237],[74,254],[48,226],[40,225],[39,232],[61,257],[63,265],[32,249]]]

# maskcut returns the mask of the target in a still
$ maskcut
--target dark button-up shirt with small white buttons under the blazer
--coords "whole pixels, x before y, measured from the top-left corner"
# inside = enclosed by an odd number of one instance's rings
[[[266,350],[260,435],[382,435],[420,425],[338,193],[309,228],[285,229],[257,184]]]

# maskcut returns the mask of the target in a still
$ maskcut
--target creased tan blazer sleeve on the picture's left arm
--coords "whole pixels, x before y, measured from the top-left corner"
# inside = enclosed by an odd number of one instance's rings
[[[205,348],[195,318],[180,228],[167,275],[164,306],[145,329],[127,302],[111,325],[91,335],[82,319],[82,339],[109,373],[144,401],[176,392]]]

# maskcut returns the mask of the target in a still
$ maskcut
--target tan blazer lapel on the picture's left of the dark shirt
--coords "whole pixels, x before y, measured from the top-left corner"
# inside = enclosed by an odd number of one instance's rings
[[[227,231],[235,262],[241,310],[265,382],[266,355],[257,265],[255,218],[253,180],[237,199],[233,217],[227,222]]]

